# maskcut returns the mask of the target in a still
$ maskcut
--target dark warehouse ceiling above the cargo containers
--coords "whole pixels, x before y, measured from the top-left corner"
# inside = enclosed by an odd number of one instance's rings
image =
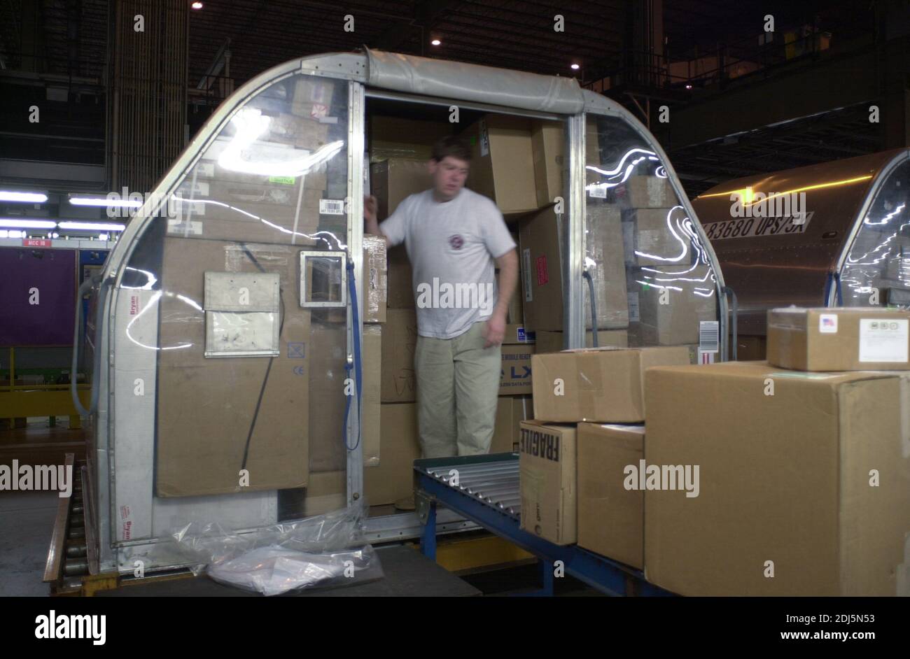
[[[841,44],[875,34],[873,10],[878,1],[664,0],[663,36],[674,61],[711,53],[721,43],[735,52],[757,43],[764,16],[771,14],[778,28],[816,25]],[[0,68],[66,75],[86,85],[93,79],[103,83],[112,2],[0,0]],[[29,18],[28,6],[38,8],[31,13],[33,18]],[[582,83],[591,83],[630,65],[630,45],[647,6],[646,0],[204,0],[201,10],[190,12],[187,84],[197,87],[224,45],[230,51],[229,77],[235,85],[293,57],[349,51],[362,45],[548,75],[575,75]],[[347,15],[354,17],[352,31],[345,29]],[[564,32],[553,29],[557,15],[564,19]],[[20,24],[29,20],[37,25],[36,36],[25,43],[25,38],[15,36],[27,33]],[[432,38],[439,38],[440,45],[430,45]],[[30,56],[37,56],[39,64],[25,65]],[[580,69],[571,70],[572,63],[578,63]],[[659,97],[661,90],[654,91]],[[634,111],[624,93],[611,90],[608,94]],[[679,106],[703,101],[704,94],[668,98]],[[203,118],[194,115],[192,127]],[[703,144],[671,148],[669,153],[690,193],[697,194],[733,176],[870,153],[879,144],[875,129],[862,121],[862,113],[847,107],[792,125],[764,126],[745,135],[718,135]]]

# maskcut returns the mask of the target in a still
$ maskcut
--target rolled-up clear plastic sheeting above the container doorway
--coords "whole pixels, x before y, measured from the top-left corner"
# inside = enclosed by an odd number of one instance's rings
[[[574,78],[368,50],[370,86],[409,94],[575,115],[584,108]]]

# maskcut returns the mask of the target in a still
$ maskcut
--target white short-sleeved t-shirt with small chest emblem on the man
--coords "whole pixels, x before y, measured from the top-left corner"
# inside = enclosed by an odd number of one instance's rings
[[[408,250],[418,334],[450,339],[492,315],[494,259],[515,241],[490,199],[461,188],[440,204],[426,190],[402,201],[379,231],[390,247],[404,243]]]

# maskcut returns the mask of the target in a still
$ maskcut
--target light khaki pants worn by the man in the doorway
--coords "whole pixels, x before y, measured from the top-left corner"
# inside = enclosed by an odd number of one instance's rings
[[[452,339],[418,336],[417,420],[423,457],[490,453],[502,367],[501,346],[484,348],[474,323]]]

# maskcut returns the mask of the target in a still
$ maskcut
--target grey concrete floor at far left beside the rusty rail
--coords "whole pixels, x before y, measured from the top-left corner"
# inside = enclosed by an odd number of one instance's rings
[[[56,492],[0,492],[0,596],[45,596]]]

